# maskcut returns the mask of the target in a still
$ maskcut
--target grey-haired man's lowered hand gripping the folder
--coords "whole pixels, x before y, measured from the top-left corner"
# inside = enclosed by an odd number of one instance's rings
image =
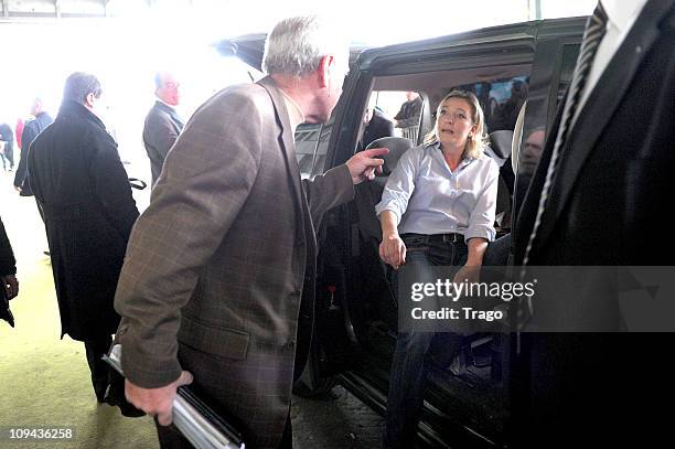
[[[192,374],[183,371],[181,376],[169,385],[159,388],[141,388],[128,379],[125,381],[125,396],[127,400],[148,415],[157,415],[162,426],[170,426],[173,421],[173,399],[175,391],[181,385],[192,384]]]

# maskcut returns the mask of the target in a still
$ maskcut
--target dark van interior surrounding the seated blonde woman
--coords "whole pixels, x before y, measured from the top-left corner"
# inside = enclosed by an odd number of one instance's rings
[[[432,130],[436,120],[436,108],[450,90],[464,89],[476,94],[481,106],[488,111],[486,125],[490,132],[490,149],[486,153],[493,157],[502,167],[500,193],[505,197],[500,207],[502,218],[508,215],[511,195],[513,194],[514,174],[511,167],[511,146],[513,127],[522,104],[525,101],[531,64],[518,64],[497,67],[478,67],[454,71],[433,71],[393,76],[374,76],[371,83],[367,100],[362,110],[350,114],[363,116],[365,107],[373,97],[386,98],[387,94],[406,90],[417,92],[424,100],[418,129],[413,135],[417,140],[405,137],[379,139],[371,143],[381,143],[390,149],[385,159],[383,174],[375,182],[358,184],[355,189],[355,201],[349,211],[350,260],[347,270],[338,267],[323,267],[323,284],[331,290],[331,303],[336,320],[326,320],[328,328],[319,330],[325,335],[335,335],[335,329],[330,327],[345,325],[349,329],[349,348],[345,342],[333,336],[324,340],[331,360],[342,360],[350,365],[349,372],[343,372],[341,382],[367,382],[374,384],[374,389],[386,392],[388,388],[392,353],[397,333],[397,299],[389,285],[390,268],[379,259],[378,246],[382,240],[379,221],[375,216],[375,204],[379,202],[388,174],[396,167],[398,158],[408,148],[421,143],[424,137]],[[516,87],[514,87],[516,86]],[[515,95],[514,95],[515,94]],[[405,98],[403,98],[405,100]],[[369,101],[373,104],[374,101]],[[395,107],[377,104],[389,118],[396,114]],[[363,133],[360,129],[358,141]],[[508,162],[506,162],[508,161]],[[508,232],[510,223],[496,223],[500,233]],[[332,245],[323,245],[322,250],[339,250]],[[322,260],[334,259],[332,257]],[[344,290],[340,288],[344,286]],[[334,298],[335,296],[339,298]],[[334,304],[343,304],[343,308]],[[330,310],[328,311],[330,313]],[[470,418],[471,428],[486,440],[500,440],[504,430],[507,392],[504,386],[503,364],[507,363],[507,335],[476,332],[464,336],[463,348],[459,355],[450,359],[443,353],[443,334],[437,334],[431,349],[431,370],[427,404],[422,421],[433,423],[433,428],[452,426],[459,423],[452,416]],[[341,354],[342,353],[342,354]],[[336,368],[340,371],[340,367]],[[353,375],[357,373],[356,375]],[[358,388],[355,388],[358,391]],[[367,396],[367,397],[366,397]],[[373,398],[364,395],[362,400],[371,406],[386,404],[386,396]],[[425,423],[421,426],[426,426]],[[496,429],[496,432],[495,432]],[[480,439],[479,438],[479,439]],[[439,443],[429,441],[432,446]],[[488,442],[488,441],[485,441]]]

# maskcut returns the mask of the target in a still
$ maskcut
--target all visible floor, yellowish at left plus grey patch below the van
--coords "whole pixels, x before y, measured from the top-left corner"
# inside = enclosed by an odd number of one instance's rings
[[[11,308],[17,328],[0,322],[0,448],[158,448],[149,417],[130,419],[97,405],[84,346],[60,340],[58,310],[44,226],[33,197],[12,188],[13,173],[0,171],[0,216],[18,260],[20,295]],[[137,202],[148,202],[137,192]],[[294,447],[375,448],[382,419],[338,387],[329,399],[293,398]],[[19,441],[10,428],[71,428],[72,439]]]

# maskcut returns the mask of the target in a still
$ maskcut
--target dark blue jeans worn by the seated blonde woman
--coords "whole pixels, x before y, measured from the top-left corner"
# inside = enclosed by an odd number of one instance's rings
[[[467,263],[468,248],[463,242],[433,240],[419,234],[404,234],[407,255],[400,268],[419,269],[431,266],[461,266]],[[397,274],[393,279],[396,292]],[[417,423],[425,397],[425,381],[429,364],[429,349],[442,339],[443,356],[450,360],[461,348],[461,335],[435,332],[399,332],[392,361],[389,394],[387,396],[386,429],[383,447],[414,448]],[[452,354],[451,354],[452,353]]]

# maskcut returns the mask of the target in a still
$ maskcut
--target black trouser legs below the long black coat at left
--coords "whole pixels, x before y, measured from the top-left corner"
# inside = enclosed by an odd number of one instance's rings
[[[110,349],[111,343],[110,335],[101,335],[84,342],[92,373],[92,386],[99,403],[103,402],[108,386],[110,386],[108,394],[111,397],[125,397],[125,378],[101,359]]]

